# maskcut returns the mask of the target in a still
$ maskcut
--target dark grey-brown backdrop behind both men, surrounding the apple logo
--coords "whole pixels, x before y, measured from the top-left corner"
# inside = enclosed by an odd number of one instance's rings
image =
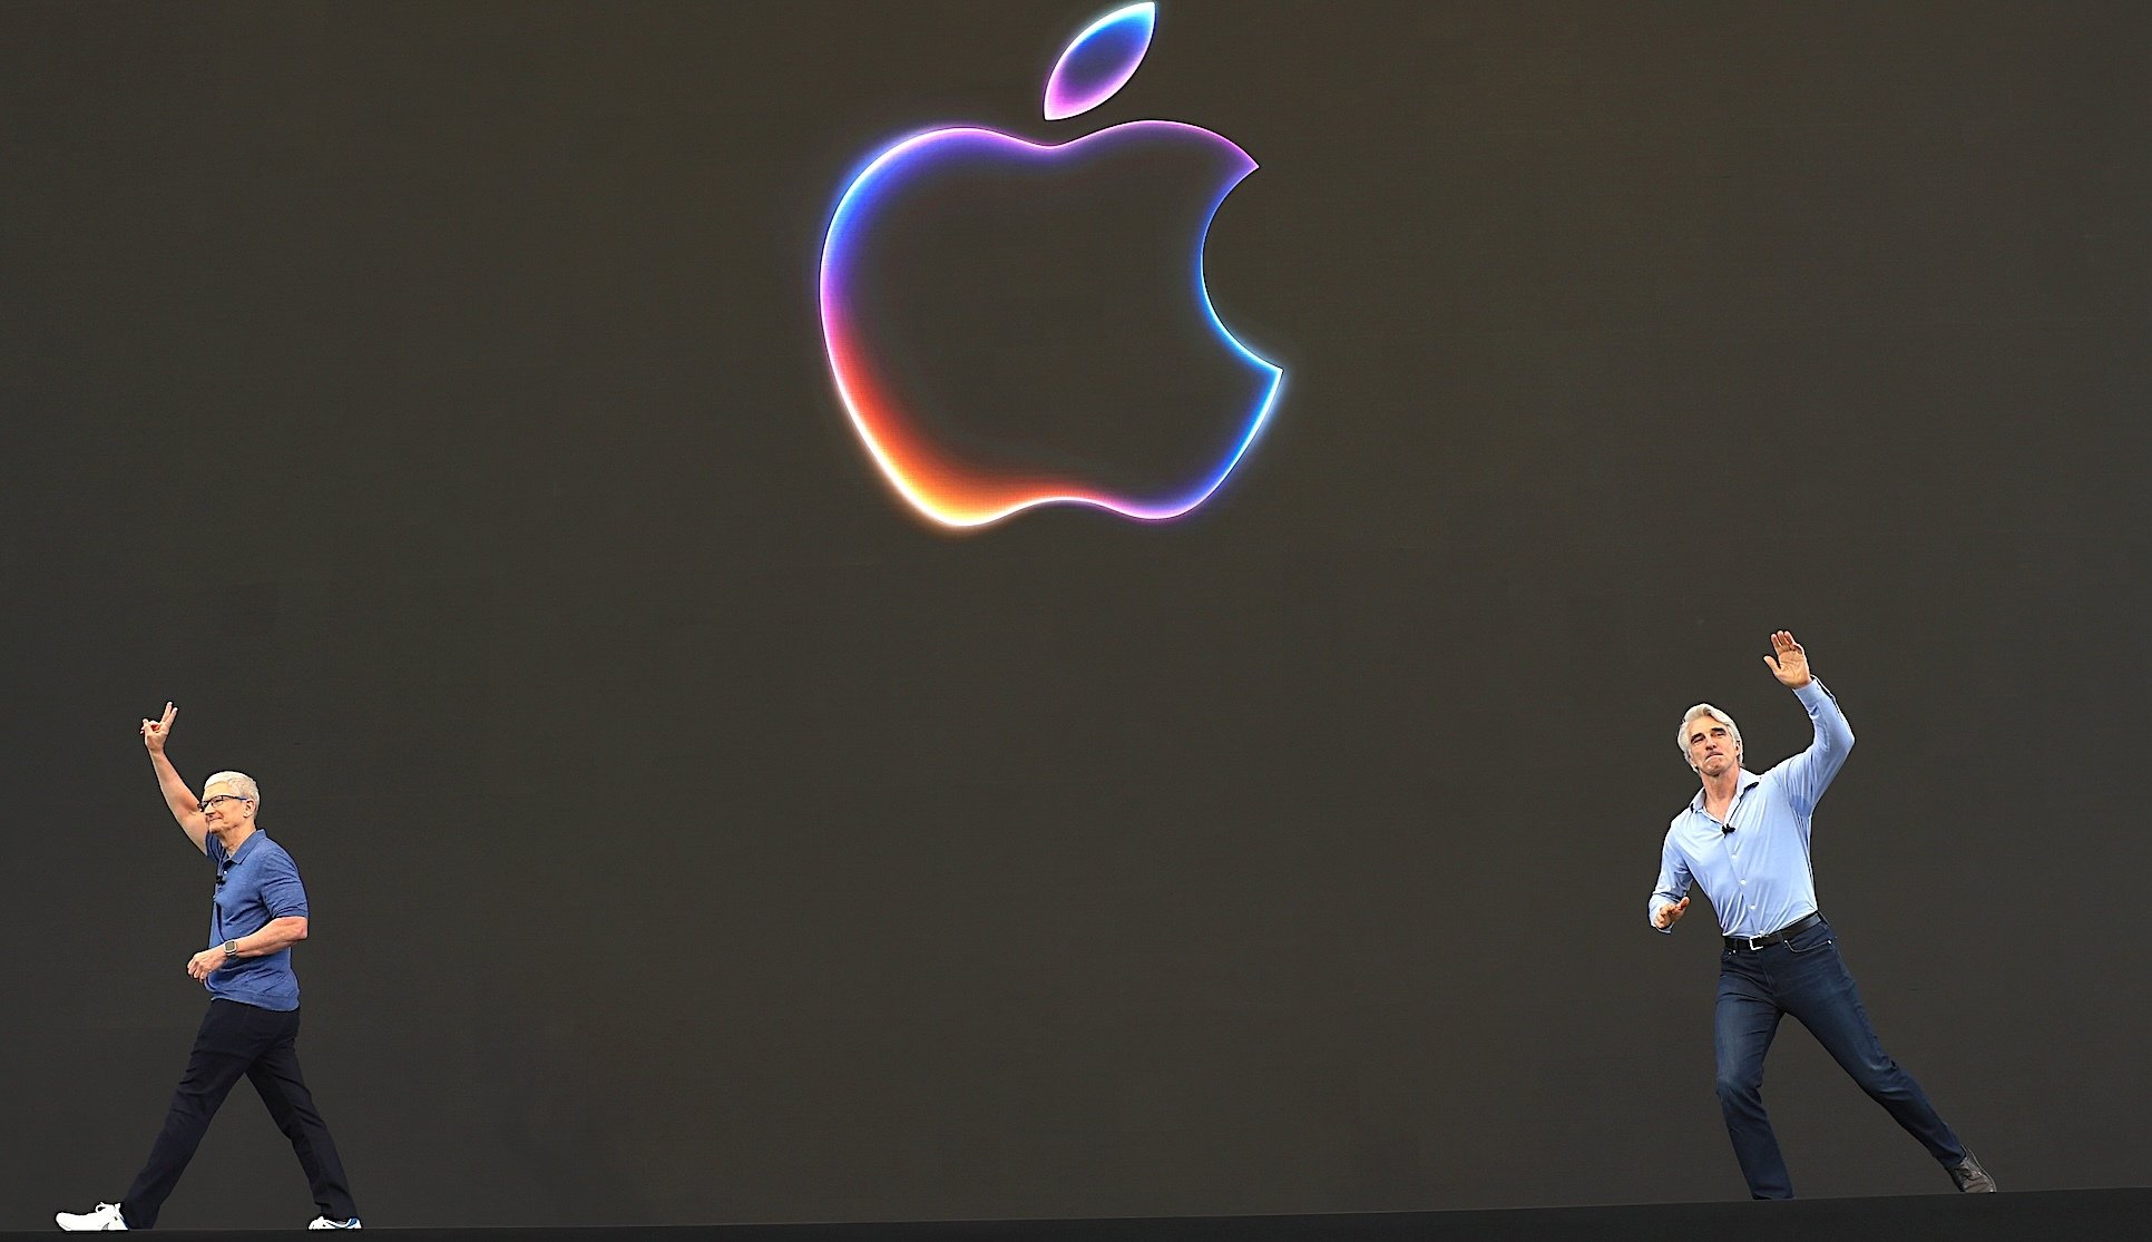
[[[1741,1192],[1711,697],[1861,736],[1816,870],[2008,1188],[2141,1180],[2152,19],[2137,4],[0,9],[0,1225],[114,1197],[263,779],[377,1225]],[[813,316],[876,144],[1209,125],[1291,370],[1190,521],[973,538]],[[1160,362],[1164,366],[1164,362]],[[1810,1195],[1941,1173],[1801,1033]],[[170,1225],[288,1225],[241,1089]]]

